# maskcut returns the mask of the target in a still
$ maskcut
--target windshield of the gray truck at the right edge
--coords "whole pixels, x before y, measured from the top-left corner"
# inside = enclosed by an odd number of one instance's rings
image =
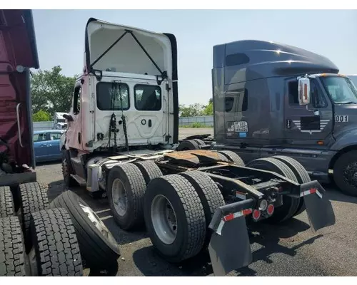
[[[357,89],[349,78],[321,77],[323,86],[336,104],[357,104]]]

